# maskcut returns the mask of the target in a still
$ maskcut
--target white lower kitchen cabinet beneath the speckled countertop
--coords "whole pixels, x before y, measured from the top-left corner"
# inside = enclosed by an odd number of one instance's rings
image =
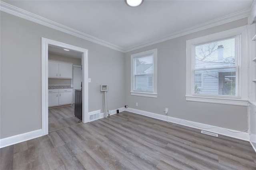
[[[48,107],[73,103],[73,89],[49,89]]]

